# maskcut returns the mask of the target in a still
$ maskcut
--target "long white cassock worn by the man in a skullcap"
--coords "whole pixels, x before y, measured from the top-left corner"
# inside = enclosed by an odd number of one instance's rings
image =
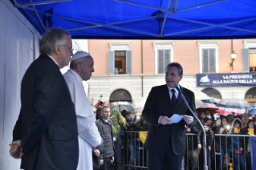
[[[64,75],[71,99],[75,105],[78,127],[79,162],[77,170],[92,170],[91,147],[100,145],[101,137],[95,124],[95,115],[91,104],[83,90],[83,79],[73,70],[69,69]]]

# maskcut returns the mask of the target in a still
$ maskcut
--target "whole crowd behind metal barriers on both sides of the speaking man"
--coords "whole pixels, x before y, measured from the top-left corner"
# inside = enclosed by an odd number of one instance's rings
[[[96,112],[100,113],[102,108],[104,107],[98,107]],[[121,111],[121,114],[129,126],[127,129],[123,129],[120,123],[121,131],[114,140],[116,164],[112,168],[116,168],[116,170],[139,169],[136,167],[142,164],[146,165],[146,163],[143,163],[146,159],[141,159],[144,153],[138,154],[140,152],[139,146],[144,146],[141,144],[138,132],[148,131],[150,124],[140,115],[134,115],[130,111],[124,110]],[[95,116],[100,119],[99,114],[95,114]],[[249,137],[239,137],[239,135],[254,136],[254,117],[249,119],[249,115],[244,113],[237,116],[234,116],[234,114],[221,115],[221,117],[215,119],[209,111],[197,111],[197,116],[203,124],[207,136],[208,169],[230,169],[230,166],[232,166],[234,170],[250,170],[250,140]],[[131,131],[134,131],[134,133],[131,133]],[[196,123],[191,128],[185,125],[185,131],[188,133],[186,138],[188,143],[184,158],[188,156],[189,161],[185,161],[183,168],[186,169],[188,167],[189,170],[204,169],[203,132],[201,126],[199,123]],[[224,136],[216,136],[216,134]],[[246,159],[244,155],[246,155]],[[144,154],[144,158],[146,158],[146,154]],[[130,168],[124,167],[124,164]]]

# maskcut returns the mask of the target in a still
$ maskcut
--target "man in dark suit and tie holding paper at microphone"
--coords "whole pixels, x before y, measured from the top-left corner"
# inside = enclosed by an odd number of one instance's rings
[[[191,112],[185,106],[181,94],[174,88],[183,76],[179,63],[169,63],[166,67],[165,85],[152,87],[145,103],[142,117],[150,127],[145,148],[148,149],[148,170],[181,169],[182,156],[185,155],[185,123],[194,123]],[[195,98],[192,91],[179,85],[189,106],[195,111]],[[178,123],[173,123],[173,114],[185,115]]]

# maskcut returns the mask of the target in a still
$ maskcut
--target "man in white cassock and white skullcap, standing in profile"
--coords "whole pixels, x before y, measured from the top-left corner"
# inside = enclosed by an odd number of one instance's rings
[[[83,80],[87,81],[91,78],[91,72],[94,72],[93,66],[94,62],[91,55],[87,52],[78,51],[71,58],[71,69],[63,75],[75,105],[79,132],[79,163],[77,170],[92,170],[91,148],[97,147],[101,143],[100,133],[95,124],[95,115],[82,84]]]

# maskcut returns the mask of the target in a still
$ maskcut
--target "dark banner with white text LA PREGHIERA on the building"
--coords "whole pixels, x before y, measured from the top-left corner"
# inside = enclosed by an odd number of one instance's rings
[[[256,86],[256,73],[197,74],[197,87]]]

